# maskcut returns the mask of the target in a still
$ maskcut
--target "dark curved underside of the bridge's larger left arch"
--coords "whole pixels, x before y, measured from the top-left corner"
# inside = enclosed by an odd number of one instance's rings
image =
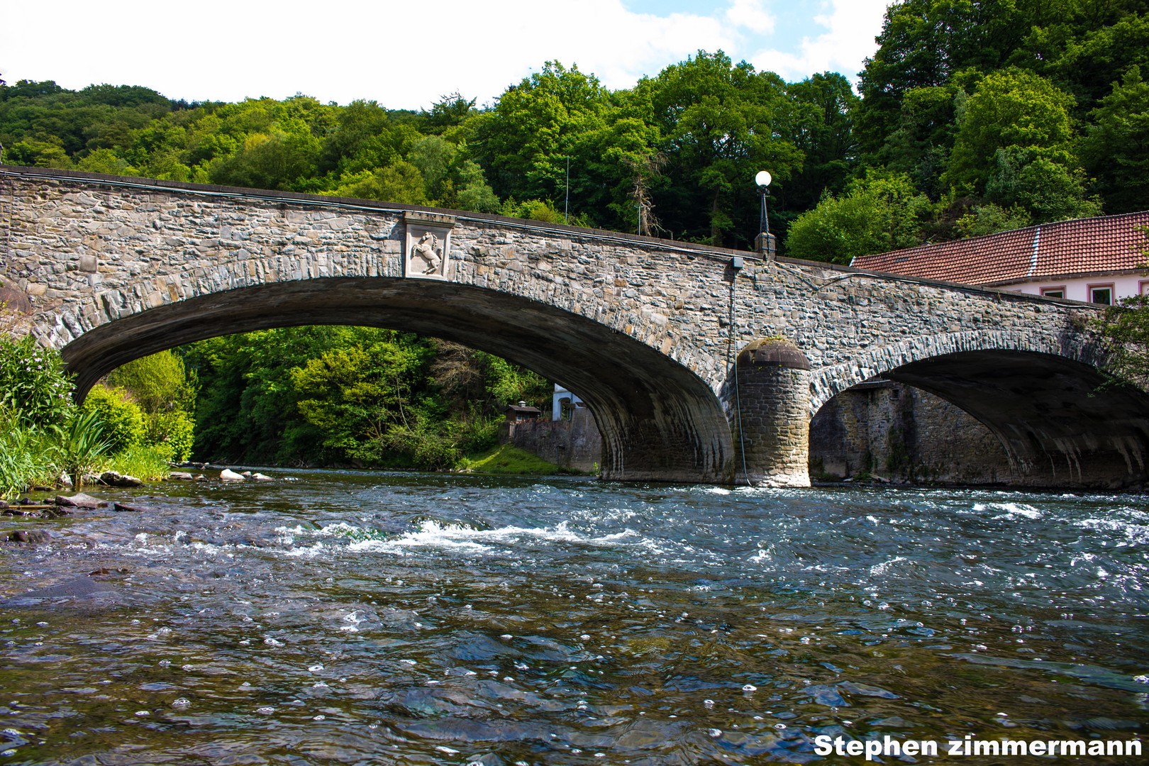
[[[603,478],[728,479],[730,426],[696,374],[603,324],[481,287],[388,277],[242,287],[100,325],[61,353],[83,394],[111,370],[148,354],[218,335],[321,324],[444,338],[562,384],[594,412],[603,438]]]

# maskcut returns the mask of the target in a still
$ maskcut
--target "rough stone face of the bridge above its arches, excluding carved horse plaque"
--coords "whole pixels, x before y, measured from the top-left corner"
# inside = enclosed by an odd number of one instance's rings
[[[52,346],[223,289],[401,276],[401,218],[410,206],[122,180],[64,171],[0,177],[10,201],[2,273],[30,296],[33,332]],[[687,366],[716,394],[727,345],[737,350],[763,335],[785,335],[810,358],[815,410],[882,369],[948,350],[997,343],[1086,355],[1063,339],[1079,309],[1057,302],[746,253],[737,253],[747,262],[734,272],[731,250],[458,216],[453,281],[600,322]]]

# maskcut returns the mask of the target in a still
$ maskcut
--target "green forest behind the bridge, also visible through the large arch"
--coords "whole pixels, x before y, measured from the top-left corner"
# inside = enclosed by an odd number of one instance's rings
[[[786,83],[699,52],[626,90],[547,62],[488,107],[456,93],[419,111],[21,80],[0,85],[0,142],[9,164],[548,222],[564,219],[569,167],[572,224],[734,248],[757,233],[753,178],[766,169],[780,254],[838,263],[1149,208],[1149,0],[905,0],[878,42],[857,92],[839,73]],[[290,362],[263,358],[253,336],[184,351],[202,386],[199,456],[446,464],[489,432],[507,380],[515,397],[545,394],[430,339],[271,332]],[[327,373],[316,362],[352,349],[365,356],[329,359]],[[453,387],[440,362],[460,355],[470,382]],[[358,381],[375,415],[332,404],[331,369],[380,363],[396,371]]]

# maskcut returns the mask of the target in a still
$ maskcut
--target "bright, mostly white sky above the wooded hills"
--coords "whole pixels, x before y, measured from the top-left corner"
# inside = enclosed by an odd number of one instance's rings
[[[856,82],[889,1],[14,0],[0,6],[0,77],[424,109],[455,92],[489,105],[547,61],[617,90],[722,49],[787,82]]]

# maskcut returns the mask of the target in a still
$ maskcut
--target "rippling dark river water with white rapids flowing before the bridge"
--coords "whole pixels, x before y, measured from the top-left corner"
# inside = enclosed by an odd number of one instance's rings
[[[0,763],[865,763],[816,737],[1149,722],[1142,496],[268,473],[8,521],[53,536],[0,549]]]

